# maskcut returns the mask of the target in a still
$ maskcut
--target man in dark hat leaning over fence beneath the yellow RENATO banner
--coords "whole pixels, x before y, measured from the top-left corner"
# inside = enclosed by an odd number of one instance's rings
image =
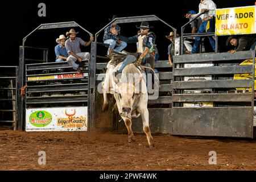
[[[230,53],[234,53],[236,51],[247,51],[247,50],[254,50],[255,45],[256,45],[256,38],[255,36],[250,36],[250,37],[234,37],[234,36],[229,36],[229,38],[226,40],[226,46],[234,46],[234,49],[228,51]]]

